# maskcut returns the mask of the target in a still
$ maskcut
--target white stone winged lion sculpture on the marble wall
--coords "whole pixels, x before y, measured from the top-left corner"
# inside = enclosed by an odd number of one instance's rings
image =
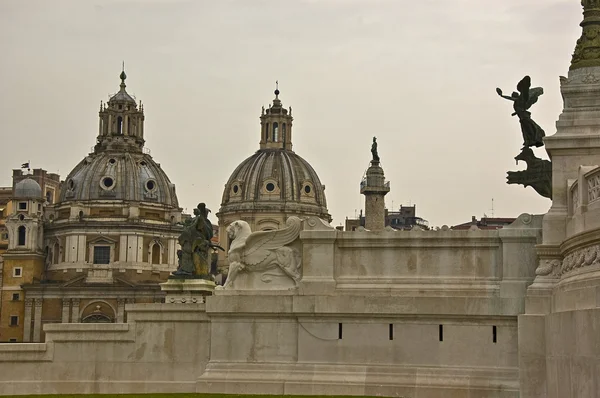
[[[223,289],[233,288],[240,271],[260,272],[279,267],[296,285],[300,281],[301,259],[298,251],[286,245],[300,235],[302,220],[290,217],[286,228],[252,232],[246,221],[238,220],[227,227],[231,239],[229,274]]]

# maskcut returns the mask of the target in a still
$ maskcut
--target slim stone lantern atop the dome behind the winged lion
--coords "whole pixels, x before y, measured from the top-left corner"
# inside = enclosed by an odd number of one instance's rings
[[[292,107],[289,111],[283,107],[279,99],[279,83],[275,83],[275,99],[273,104],[260,115],[260,149],[292,150]]]

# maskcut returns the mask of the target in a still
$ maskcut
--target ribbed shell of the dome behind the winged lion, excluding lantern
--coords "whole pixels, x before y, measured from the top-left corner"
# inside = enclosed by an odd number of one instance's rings
[[[312,166],[285,149],[261,149],[244,160],[225,185],[221,213],[244,210],[301,212],[329,219],[325,187]]]

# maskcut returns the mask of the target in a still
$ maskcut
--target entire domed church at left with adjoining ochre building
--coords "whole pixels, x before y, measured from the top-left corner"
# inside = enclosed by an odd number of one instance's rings
[[[177,268],[175,185],[144,147],[143,105],[120,78],[93,152],[64,183],[13,174],[2,341],[43,341],[49,323],[123,322],[125,303],[160,301]]]

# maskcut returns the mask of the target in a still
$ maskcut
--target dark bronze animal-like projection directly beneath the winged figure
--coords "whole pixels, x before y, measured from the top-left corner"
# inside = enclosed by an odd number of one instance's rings
[[[525,147],[515,157],[527,163],[523,171],[509,171],[506,176],[507,184],[521,184],[531,186],[537,193],[545,198],[552,199],[552,163],[549,160],[537,158],[531,148]]]

